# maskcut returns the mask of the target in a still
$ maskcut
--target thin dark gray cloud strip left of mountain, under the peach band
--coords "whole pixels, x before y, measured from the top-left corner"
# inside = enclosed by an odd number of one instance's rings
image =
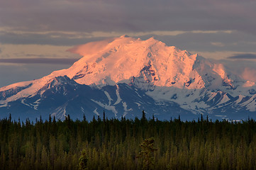
[[[15,64],[73,64],[79,58],[11,58],[0,59],[0,63]]]

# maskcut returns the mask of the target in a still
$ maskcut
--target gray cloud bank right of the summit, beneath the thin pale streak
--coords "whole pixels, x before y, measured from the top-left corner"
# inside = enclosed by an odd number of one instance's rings
[[[154,36],[157,40],[165,42],[167,45],[174,45],[189,51],[256,52],[256,36],[241,33],[239,31],[235,31],[234,33],[184,33],[175,36],[144,35],[140,38],[147,39],[151,36]],[[223,45],[213,45],[213,42],[221,42]]]

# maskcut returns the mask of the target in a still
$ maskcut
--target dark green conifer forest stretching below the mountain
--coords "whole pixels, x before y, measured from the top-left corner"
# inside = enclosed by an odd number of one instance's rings
[[[152,137],[152,138],[150,138]],[[255,169],[255,120],[0,120],[0,169]],[[143,143],[144,141],[144,143]],[[146,141],[147,142],[147,141]],[[147,146],[146,146],[147,147]],[[83,152],[82,152],[83,151]],[[81,163],[81,162],[80,162]]]

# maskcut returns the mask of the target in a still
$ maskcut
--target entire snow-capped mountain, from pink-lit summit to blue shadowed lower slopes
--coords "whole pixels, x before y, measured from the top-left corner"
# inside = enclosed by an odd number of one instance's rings
[[[150,38],[126,35],[69,50],[82,55],[68,69],[0,89],[0,117],[64,119],[102,115],[160,119],[256,118],[256,84],[220,63]]]

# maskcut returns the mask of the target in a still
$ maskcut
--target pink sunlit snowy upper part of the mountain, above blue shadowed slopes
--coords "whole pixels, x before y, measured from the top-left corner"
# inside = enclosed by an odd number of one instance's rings
[[[118,83],[138,86],[173,86],[179,89],[234,89],[234,78],[221,64],[214,64],[187,50],[160,40],[140,40],[122,35],[78,45],[69,50],[83,55],[69,69],[52,72],[45,79],[67,76],[79,84],[99,86]],[[240,81],[235,78],[235,81]],[[45,81],[42,81],[43,84]],[[245,83],[245,82],[244,82]],[[250,84],[249,84],[250,85]],[[247,84],[247,86],[249,86]],[[240,85],[243,86],[243,85]]]

